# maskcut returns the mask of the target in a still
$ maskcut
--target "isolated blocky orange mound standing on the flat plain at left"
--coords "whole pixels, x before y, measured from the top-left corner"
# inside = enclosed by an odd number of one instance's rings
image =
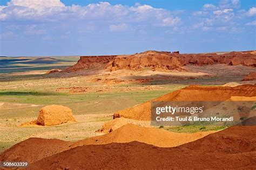
[[[67,122],[75,122],[72,110],[63,105],[47,105],[39,111],[36,120],[21,124],[21,126],[43,125],[52,126]]]

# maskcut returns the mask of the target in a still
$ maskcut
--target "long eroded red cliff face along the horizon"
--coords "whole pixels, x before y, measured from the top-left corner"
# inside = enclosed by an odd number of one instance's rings
[[[256,55],[252,51],[230,52],[225,54],[178,54],[171,52],[146,51],[133,55],[81,56],[76,65],[64,72],[75,72],[84,69],[161,69],[184,70],[185,65],[227,65],[256,66]]]

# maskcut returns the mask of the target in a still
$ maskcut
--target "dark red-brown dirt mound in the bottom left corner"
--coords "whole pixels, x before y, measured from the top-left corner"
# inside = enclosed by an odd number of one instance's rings
[[[30,164],[50,155],[69,149],[70,141],[29,138],[0,155],[0,161],[28,161]]]

